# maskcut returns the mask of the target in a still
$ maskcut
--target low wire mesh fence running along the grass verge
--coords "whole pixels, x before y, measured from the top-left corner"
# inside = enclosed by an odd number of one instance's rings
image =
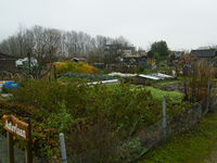
[[[208,103],[214,102],[215,99],[209,100],[205,98],[202,101],[191,105],[182,114],[176,114],[175,116],[166,116],[166,138],[173,138],[177,134],[190,129],[202,116],[206,115],[208,110],[214,109]],[[208,103],[207,103],[208,102]],[[158,121],[153,126],[144,129],[143,131],[133,135],[125,141],[113,145],[106,148],[92,150],[85,153],[67,155],[68,163],[111,163],[111,162],[133,162],[142,154],[148,152],[154,145],[164,140],[163,135],[163,120]],[[8,148],[5,137],[0,135],[0,163],[8,162]],[[14,147],[15,162],[24,162],[25,154]],[[62,162],[62,159],[41,158],[34,159],[34,162]]]

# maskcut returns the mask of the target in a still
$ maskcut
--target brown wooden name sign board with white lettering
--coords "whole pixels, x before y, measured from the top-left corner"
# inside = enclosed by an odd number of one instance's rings
[[[13,115],[3,115],[3,128],[11,134],[22,137],[28,141],[28,124],[20,121]]]

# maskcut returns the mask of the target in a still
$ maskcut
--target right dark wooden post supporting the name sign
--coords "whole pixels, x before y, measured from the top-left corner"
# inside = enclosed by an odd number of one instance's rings
[[[30,118],[24,117],[24,122],[28,124],[28,141],[25,142],[25,159],[27,163],[33,163]]]

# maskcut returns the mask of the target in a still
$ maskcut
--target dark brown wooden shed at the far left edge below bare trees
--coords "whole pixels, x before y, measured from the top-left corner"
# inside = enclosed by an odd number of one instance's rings
[[[16,68],[16,58],[0,52],[0,71],[13,71]]]

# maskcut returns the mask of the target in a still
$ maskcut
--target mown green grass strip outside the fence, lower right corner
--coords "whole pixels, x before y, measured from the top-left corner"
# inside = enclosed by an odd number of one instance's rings
[[[155,146],[137,163],[202,163],[212,160],[212,152],[217,150],[216,126],[217,112],[209,113],[188,133]]]

